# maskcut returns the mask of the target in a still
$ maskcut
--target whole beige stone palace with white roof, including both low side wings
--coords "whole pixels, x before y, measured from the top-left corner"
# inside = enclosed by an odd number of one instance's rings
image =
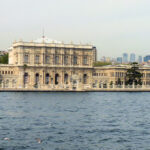
[[[124,85],[128,66],[93,67],[96,61],[93,45],[64,44],[45,37],[14,42],[9,64],[0,65],[0,88],[82,91],[112,88],[118,78]],[[150,68],[140,70],[143,84],[150,85]]]

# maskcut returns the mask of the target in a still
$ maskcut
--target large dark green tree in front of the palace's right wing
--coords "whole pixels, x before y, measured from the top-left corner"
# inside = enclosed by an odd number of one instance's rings
[[[131,68],[127,70],[125,82],[126,85],[142,85],[141,81],[142,73],[139,72],[138,63],[134,62],[131,64]]]

